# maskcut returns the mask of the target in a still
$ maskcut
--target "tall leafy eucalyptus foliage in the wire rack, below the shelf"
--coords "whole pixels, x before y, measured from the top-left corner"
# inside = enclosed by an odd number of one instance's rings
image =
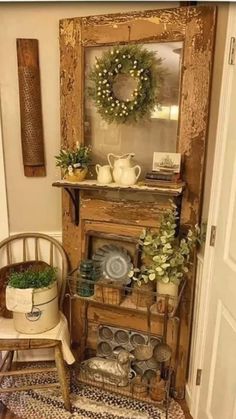
[[[191,253],[201,243],[200,229],[196,225],[180,238],[176,235],[177,221],[177,208],[172,202],[162,216],[159,231],[149,229],[141,234],[139,246],[143,264],[129,273],[139,285],[149,281],[179,284],[187,274]]]

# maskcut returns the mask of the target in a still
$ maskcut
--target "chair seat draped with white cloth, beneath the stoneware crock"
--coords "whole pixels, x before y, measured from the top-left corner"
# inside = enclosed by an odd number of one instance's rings
[[[0,318],[0,351],[53,348],[62,344],[62,354],[67,364],[73,364],[75,358],[70,350],[70,336],[67,319],[60,312],[60,322],[56,327],[39,334],[19,333],[14,328],[13,319]]]

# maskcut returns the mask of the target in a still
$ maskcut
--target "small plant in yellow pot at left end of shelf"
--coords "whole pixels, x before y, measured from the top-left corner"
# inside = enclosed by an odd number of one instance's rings
[[[77,142],[74,148],[62,148],[55,158],[56,166],[61,167],[64,172],[64,179],[81,182],[88,173],[91,148]]]

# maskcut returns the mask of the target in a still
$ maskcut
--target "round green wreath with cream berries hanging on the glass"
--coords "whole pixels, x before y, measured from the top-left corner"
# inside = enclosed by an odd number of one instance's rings
[[[162,59],[140,45],[125,45],[109,49],[96,58],[88,88],[101,117],[108,123],[133,123],[148,118],[160,99],[160,87],[165,69]],[[132,99],[120,100],[113,86],[117,75],[126,74],[137,80]]]

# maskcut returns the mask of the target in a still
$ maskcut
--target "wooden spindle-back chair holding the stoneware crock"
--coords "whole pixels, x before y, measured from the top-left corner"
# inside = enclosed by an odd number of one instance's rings
[[[0,268],[5,266],[13,266],[16,263],[27,262],[27,261],[39,261],[46,262],[48,265],[57,268],[58,276],[58,295],[59,295],[59,309],[62,311],[66,278],[68,274],[68,262],[66,253],[62,245],[54,238],[41,233],[22,233],[13,235],[0,243]],[[4,287],[1,289],[3,290]],[[52,368],[30,368],[22,371],[9,370],[11,369],[12,359],[15,351],[28,350],[28,349],[42,349],[42,348],[54,348],[56,367]],[[6,352],[7,351],[7,352]],[[61,341],[53,339],[39,339],[34,338],[34,335],[30,339],[22,339],[19,334],[17,339],[4,339],[1,338],[0,331],[0,352],[6,352],[2,360],[2,369],[0,372],[0,383],[6,376],[18,376],[20,374],[32,374],[57,371],[59,383],[55,383],[54,386],[60,387],[62,391],[63,400],[67,410],[71,409],[69,399],[69,386],[66,379],[66,371],[64,366],[64,360],[62,356]],[[23,387],[11,387],[2,388],[0,392],[12,392],[27,390],[31,388],[48,388],[52,384],[45,385],[30,385]]]

